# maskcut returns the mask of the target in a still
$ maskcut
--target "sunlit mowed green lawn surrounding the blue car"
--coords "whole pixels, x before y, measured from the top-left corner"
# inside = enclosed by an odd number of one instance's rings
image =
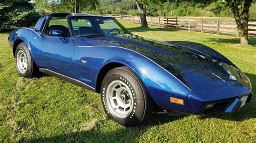
[[[226,35],[123,23],[133,34],[159,41],[185,40],[210,46],[250,77],[256,93],[256,38],[249,46]],[[171,117],[153,114],[142,126],[124,127],[106,117],[100,95],[55,77],[19,77],[8,33],[0,34],[1,141],[256,141],[256,98],[236,113]]]

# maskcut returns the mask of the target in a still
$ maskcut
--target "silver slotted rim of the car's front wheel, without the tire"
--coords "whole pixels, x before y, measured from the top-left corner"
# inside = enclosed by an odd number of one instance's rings
[[[115,80],[107,86],[106,102],[112,113],[119,118],[125,118],[132,112],[132,92],[122,81]]]

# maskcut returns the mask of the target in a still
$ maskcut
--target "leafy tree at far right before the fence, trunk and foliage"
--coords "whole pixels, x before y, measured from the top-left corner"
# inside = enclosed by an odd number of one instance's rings
[[[241,45],[248,45],[249,10],[254,0],[223,0],[223,2],[233,11]]]

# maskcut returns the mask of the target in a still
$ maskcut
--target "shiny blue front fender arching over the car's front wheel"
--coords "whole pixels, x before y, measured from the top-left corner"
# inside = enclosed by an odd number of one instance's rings
[[[105,47],[107,49],[104,47],[97,48],[97,55],[104,54],[105,56],[105,60],[99,68],[100,70],[107,64],[121,63],[136,73],[143,82],[153,101],[161,109],[177,109],[181,112],[187,111],[186,98],[191,94],[191,90],[188,89],[184,83],[180,82],[178,78],[174,77],[169,71],[165,70],[145,55],[131,51],[130,49],[122,47]],[[111,53],[106,54],[107,52],[104,51],[111,51]],[[184,105],[170,103],[170,97],[183,99]]]

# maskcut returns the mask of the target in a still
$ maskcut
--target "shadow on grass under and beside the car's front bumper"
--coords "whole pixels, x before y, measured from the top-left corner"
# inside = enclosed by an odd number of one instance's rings
[[[240,108],[238,112],[234,112],[234,113],[217,112],[217,113],[212,113],[205,116],[200,116],[199,119],[219,118],[224,120],[243,121],[250,118],[256,118],[256,110],[255,110],[256,109],[256,98],[255,98],[256,75],[248,74],[248,73],[245,73],[245,75],[250,78],[250,81],[252,84],[252,92],[254,93],[254,96],[252,97],[250,103],[245,104],[245,106]]]

